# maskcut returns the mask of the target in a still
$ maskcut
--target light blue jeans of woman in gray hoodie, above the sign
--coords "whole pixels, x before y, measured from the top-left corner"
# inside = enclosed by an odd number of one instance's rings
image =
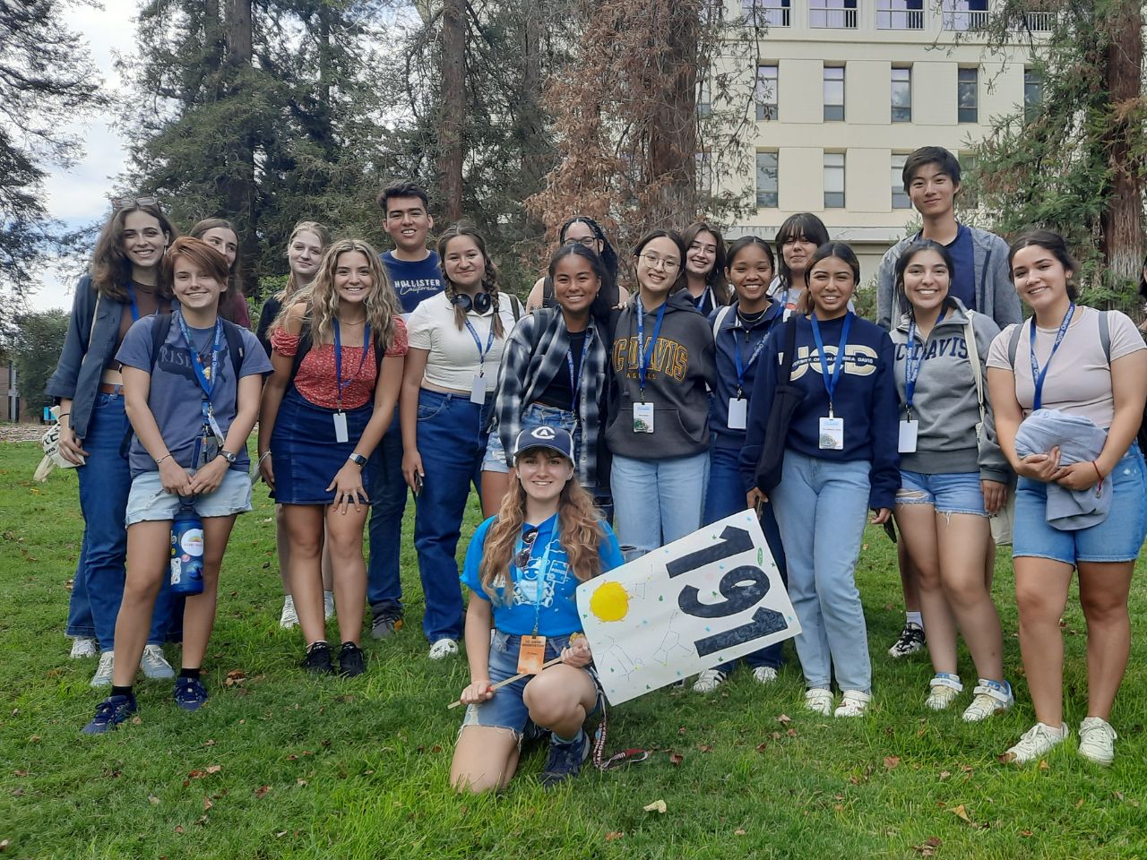
[[[701,527],[709,452],[668,460],[614,454],[610,472],[617,539],[625,561],[640,558]]]

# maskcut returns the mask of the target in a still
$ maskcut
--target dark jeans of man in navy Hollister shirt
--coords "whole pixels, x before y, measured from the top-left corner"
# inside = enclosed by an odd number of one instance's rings
[[[403,515],[406,513],[406,479],[403,477],[403,431],[395,420],[374,451],[377,468],[370,493],[370,560],[366,569],[366,597],[375,618],[403,613],[403,578],[399,550],[403,546]]]

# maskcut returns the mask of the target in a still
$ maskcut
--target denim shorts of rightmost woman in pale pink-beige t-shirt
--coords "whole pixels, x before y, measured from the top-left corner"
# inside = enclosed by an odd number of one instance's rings
[[[1047,524],[1047,484],[1020,478],[1012,556],[1052,558],[1072,565],[1138,558],[1147,530],[1147,478],[1138,445],[1131,445],[1107,480],[1113,482],[1107,518],[1089,529],[1061,531]]]

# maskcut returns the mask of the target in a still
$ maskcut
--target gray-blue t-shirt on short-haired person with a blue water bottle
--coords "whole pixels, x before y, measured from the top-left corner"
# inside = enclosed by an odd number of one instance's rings
[[[174,311],[174,314],[178,313],[179,311]],[[151,329],[158,319],[158,316],[145,316],[133,323],[124,336],[116,359],[126,367],[134,367],[151,374],[148,408],[151,409],[155,422],[159,425],[159,432],[163,433],[163,440],[167,445],[172,459],[185,469],[190,469],[195,467],[193,458],[195,456],[196,440],[202,436],[203,390],[195,376],[192,355],[184,342],[179,320],[174,315],[167,337],[159,347],[158,359],[153,367]],[[192,335],[192,345],[203,357],[203,363],[210,367],[214,328],[188,327],[188,331]],[[243,338],[243,361],[240,366],[240,376],[271,373],[273,369],[271,360],[255,335],[247,329],[241,329],[241,336]],[[212,411],[224,436],[227,435],[231,422],[235,419],[235,385],[234,366],[227,338],[224,337],[219,351],[219,377],[211,391]],[[147,453],[138,437],[132,438],[127,464],[133,478],[142,472],[158,469],[155,460]],[[231,468],[243,471],[250,468],[245,445]]]

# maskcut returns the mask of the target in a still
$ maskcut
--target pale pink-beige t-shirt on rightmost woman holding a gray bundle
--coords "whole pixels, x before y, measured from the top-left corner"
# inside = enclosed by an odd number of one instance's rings
[[[1029,326],[1035,319],[1022,323],[1020,341],[1015,350],[1015,398],[1027,415],[1031,412],[1036,398],[1036,385],[1031,377],[1031,350]],[[1107,312],[1108,330],[1111,335],[1111,361],[1130,355],[1132,352],[1147,349],[1142,336],[1131,319],[1118,311]],[[1008,326],[988,351],[988,367],[1012,370],[1008,362],[1008,343],[1015,331],[1015,325]],[[1036,360],[1039,369],[1047,366],[1047,357],[1055,344],[1055,328],[1036,328]],[[1095,422],[1105,430],[1111,425],[1115,404],[1111,398],[1111,368],[1103,344],[1099,339],[1099,311],[1079,305],[1076,307],[1068,326],[1067,334],[1055,351],[1052,366],[1044,380],[1044,396],[1040,406],[1045,409],[1060,409],[1069,415],[1082,415]]]

